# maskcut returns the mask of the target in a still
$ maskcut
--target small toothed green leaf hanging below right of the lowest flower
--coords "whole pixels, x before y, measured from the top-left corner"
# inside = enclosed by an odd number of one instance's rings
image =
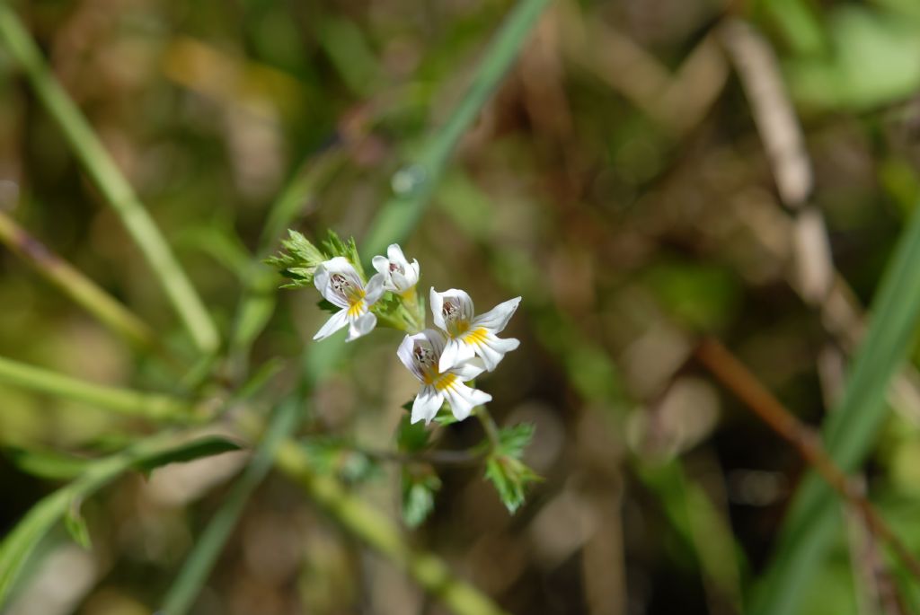
[[[499,430],[499,442],[489,453],[486,478],[495,485],[502,504],[512,514],[523,504],[526,487],[540,477],[521,458],[534,438],[534,426],[528,423]]]

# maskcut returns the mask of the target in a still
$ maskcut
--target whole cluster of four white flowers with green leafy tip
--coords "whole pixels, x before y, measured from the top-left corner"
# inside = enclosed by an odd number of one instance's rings
[[[412,403],[412,423],[430,423],[445,402],[462,421],[477,405],[491,401],[489,393],[468,383],[483,371],[495,370],[505,354],[520,344],[499,337],[520,297],[477,315],[465,291],[431,288],[434,327],[426,328],[424,303],[416,292],[419,261],[409,262],[399,245],[390,245],[386,256],[374,256],[376,273],[366,280],[353,241],[344,243],[330,233],[325,249],[320,250],[300,233],[291,232],[283,245],[288,254],[270,262],[293,279],[289,286],[306,286],[312,281],[325,300],[324,307],[332,312],[314,339],[324,339],[345,327],[348,342],[366,336],[376,325],[407,331],[397,357],[420,382]]]

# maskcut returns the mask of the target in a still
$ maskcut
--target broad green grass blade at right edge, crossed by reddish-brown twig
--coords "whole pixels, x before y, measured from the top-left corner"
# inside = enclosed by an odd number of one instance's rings
[[[888,406],[885,394],[914,341],[920,317],[920,208],[885,271],[870,310],[868,334],[853,360],[841,401],[822,429],[825,446],[847,473],[857,470],[875,442]],[[840,528],[833,490],[811,473],[789,509],[773,562],[755,588],[753,615],[796,612],[802,592]]]

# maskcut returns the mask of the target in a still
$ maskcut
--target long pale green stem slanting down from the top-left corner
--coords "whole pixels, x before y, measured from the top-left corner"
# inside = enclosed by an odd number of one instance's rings
[[[201,298],[118,165],[54,78],[29,31],[7,2],[0,2],[0,38],[25,72],[41,104],[58,123],[87,175],[131,233],[195,345],[201,352],[215,351],[220,337]]]

